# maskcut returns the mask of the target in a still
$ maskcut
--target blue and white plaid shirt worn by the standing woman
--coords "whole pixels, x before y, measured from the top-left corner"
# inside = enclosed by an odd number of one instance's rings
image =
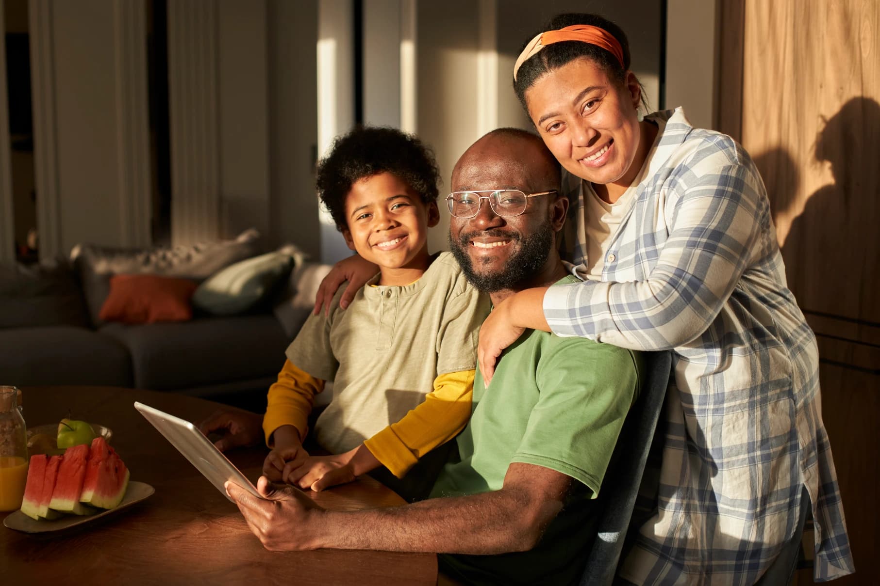
[[[638,350],[672,350],[658,509],[623,577],[752,584],[812,502],[815,578],[854,571],[822,423],[816,338],[786,286],[764,184],[730,137],[680,109],[660,127],[601,281],[552,287],[551,328]],[[586,275],[583,182],[563,251]],[[649,474],[649,473],[646,473]],[[649,474],[650,475],[650,474]],[[656,477],[656,475],[655,475]]]

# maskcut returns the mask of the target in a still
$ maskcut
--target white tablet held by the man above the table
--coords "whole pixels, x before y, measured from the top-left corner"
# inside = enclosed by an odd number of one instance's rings
[[[216,445],[212,444],[193,423],[141,402],[135,402],[135,409],[140,411],[141,415],[146,417],[147,421],[165,436],[165,439],[186,456],[190,463],[211,481],[226,498],[230,497],[224,488],[225,481],[235,482],[253,496],[263,498],[253,483],[247,480],[245,474],[241,474],[238,468],[226,459],[223,452],[220,452]],[[232,499],[230,498],[230,500]]]

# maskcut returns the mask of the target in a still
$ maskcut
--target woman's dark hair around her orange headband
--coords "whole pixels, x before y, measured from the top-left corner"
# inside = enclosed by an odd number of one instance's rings
[[[595,62],[612,81],[617,83],[624,83],[626,81],[627,70],[630,67],[627,34],[623,32],[620,26],[615,25],[607,18],[598,16],[598,14],[568,13],[556,15],[540,31],[530,35],[519,50],[522,52],[525,46],[529,44],[529,41],[539,33],[558,31],[561,28],[572,25],[598,26],[598,28],[611,33],[623,49],[623,66],[621,67],[620,61],[609,51],[596,45],[590,45],[590,43],[583,43],[579,40],[564,40],[553,45],[547,45],[538,54],[533,55],[523,63],[517,72],[517,79],[513,83],[513,90],[517,92],[519,103],[523,105],[526,112],[528,112],[528,108],[525,105],[525,90],[531,88],[532,84],[548,71],[559,69],[581,57],[587,57],[590,61]],[[644,96],[645,92],[642,90],[642,105],[647,108]]]

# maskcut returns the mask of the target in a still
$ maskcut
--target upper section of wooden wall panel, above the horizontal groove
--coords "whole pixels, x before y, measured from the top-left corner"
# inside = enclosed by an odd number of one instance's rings
[[[743,144],[801,307],[880,323],[880,2],[752,0]]]

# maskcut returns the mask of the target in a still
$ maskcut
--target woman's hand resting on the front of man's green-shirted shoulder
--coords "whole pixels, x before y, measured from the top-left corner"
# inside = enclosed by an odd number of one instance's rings
[[[480,326],[477,361],[483,383],[488,387],[502,351],[519,339],[526,329],[550,331],[544,318],[544,293],[548,287],[524,289],[495,306]]]

